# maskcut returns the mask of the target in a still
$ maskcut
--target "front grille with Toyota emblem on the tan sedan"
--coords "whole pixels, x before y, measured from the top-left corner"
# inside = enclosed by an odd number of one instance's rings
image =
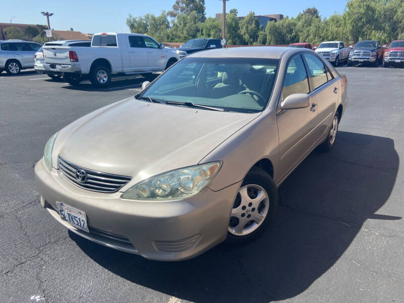
[[[63,176],[74,185],[91,191],[116,192],[132,179],[127,176],[101,173],[83,168],[63,159],[60,155],[58,156],[58,168]],[[80,171],[82,181],[77,171]]]

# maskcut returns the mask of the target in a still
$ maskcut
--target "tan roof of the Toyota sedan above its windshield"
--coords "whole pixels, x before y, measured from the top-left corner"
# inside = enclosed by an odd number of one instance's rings
[[[193,58],[265,58],[280,59],[285,52],[299,52],[298,48],[283,46],[241,46],[216,48],[197,52],[188,57]]]

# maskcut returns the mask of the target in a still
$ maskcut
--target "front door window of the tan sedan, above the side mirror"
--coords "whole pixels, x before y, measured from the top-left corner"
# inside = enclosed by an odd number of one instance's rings
[[[309,80],[300,56],[289,61],[283,80],[282,100],[293,93],[309,93]]]

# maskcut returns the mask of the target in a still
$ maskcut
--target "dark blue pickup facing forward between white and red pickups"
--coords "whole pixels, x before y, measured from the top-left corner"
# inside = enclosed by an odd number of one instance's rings
[[[349,53],[348,66],[358,63],[373,63],[377,66],[383,60],[383,48],[377,40],[363,40],[355,44]]]

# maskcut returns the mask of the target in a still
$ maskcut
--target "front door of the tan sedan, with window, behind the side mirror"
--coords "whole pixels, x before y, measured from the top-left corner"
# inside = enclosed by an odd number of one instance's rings
[[[294,93],[310,93],[309,77],[300,55],[296,55],[288,62],[279,104]],[[317,98],[312,95],[307,108],[278,110],[276,119],[281,179],[286,177],[317,143],[314,134],[318,124],[317,113]]]

